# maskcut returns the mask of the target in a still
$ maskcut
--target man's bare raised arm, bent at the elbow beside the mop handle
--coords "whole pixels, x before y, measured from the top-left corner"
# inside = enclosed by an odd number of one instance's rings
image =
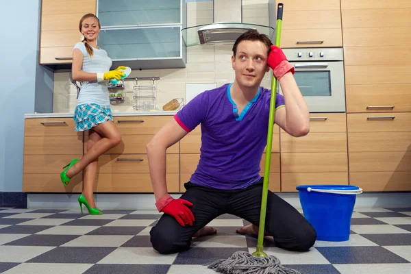
[[[286,107],[275,111],[275,123],[291,136],[306,136],[310,132],[310,112],[292,73],[284,74],[279,84]]]

